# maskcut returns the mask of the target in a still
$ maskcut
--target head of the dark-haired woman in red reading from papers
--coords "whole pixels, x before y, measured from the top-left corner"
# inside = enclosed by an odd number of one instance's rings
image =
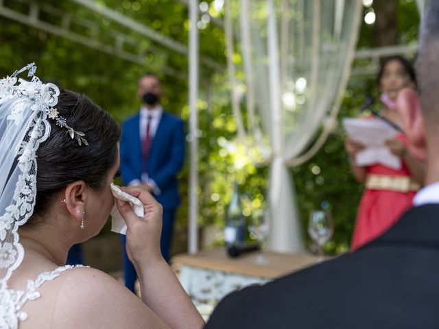
[[[377,82],[381,93],[396,101],[403,88],[416,89],[416,75],[410,60],[402,56],[390,56],[381,63]]]

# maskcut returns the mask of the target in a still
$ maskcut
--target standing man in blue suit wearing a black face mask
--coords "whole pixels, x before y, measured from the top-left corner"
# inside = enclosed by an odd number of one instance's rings
[[[176,209],[180,203],[176,175],[185,156],[183,121],[163,111],[163,90],[158,77],[145,74],[139,79],[137,97],[143,105],[139,114],[122,124],[120,170],[123,184],[143,185],[163,206],[161,252],[169,261],[169,249]],[[136,272],[125,249],[122,236],[123,275],[128,289],[134,291]]]

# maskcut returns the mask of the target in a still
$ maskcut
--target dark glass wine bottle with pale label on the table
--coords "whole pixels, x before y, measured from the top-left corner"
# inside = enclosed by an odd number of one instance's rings
[[[233,183],[233,195],[226,210],[226,225],[224,228],[224,241],[226,242],[227,254],[237,257],[244,247],[244,234],[246,219],[242,214],[241,195],[237,182]]]

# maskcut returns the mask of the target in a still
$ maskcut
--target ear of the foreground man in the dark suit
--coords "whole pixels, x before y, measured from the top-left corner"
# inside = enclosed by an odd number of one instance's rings
[[[403,120],[403,130],[409,141],[410,153],[418,160],[427,160],[427,138],[418,93],[409,88],[401,90],[397,99],[397,109]]]

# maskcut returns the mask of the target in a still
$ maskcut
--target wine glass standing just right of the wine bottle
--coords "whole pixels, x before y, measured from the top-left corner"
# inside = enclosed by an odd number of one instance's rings
[[[267,245],[268,234],[270,234],[270,219],[268,218],[268,211],[262,209],[255,209],[252,211],[250,225],[248,230],[250,235],[257,239],[260,247],[259,254],[254,260],[257,264],[267,264],[268,260],[263,256],[263,250]]]

